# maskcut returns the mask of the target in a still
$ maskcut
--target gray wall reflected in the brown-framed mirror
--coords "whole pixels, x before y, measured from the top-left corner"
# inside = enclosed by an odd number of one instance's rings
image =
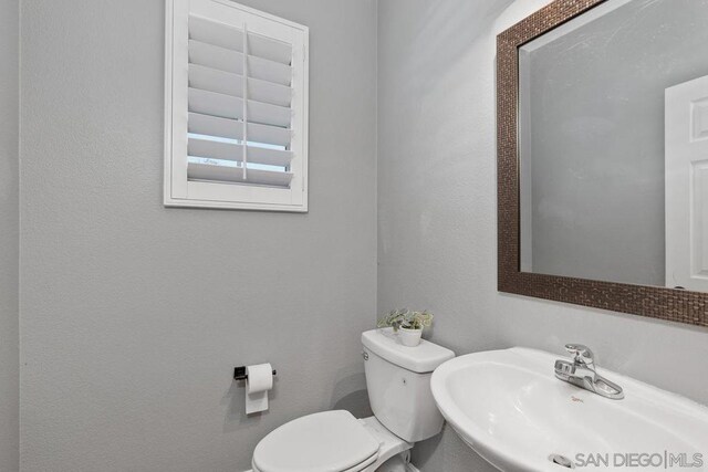
[[[533,272],[663,286],[664,92],[708,74],[708,0],[634,0],[568,31],[581,20],[520,57]]]

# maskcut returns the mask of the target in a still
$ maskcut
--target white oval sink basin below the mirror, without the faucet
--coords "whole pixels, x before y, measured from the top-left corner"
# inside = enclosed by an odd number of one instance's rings
[[[708,408],[597,369],[625,392],[603,398],[556,379],[562,357],[521,347],[457,357],[433,374],[433,396],[460,438],[502,471],[708,470]]]

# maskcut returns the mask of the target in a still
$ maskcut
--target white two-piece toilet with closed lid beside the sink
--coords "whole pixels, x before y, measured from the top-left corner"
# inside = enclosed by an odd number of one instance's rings
[[[430,392],[433,370],[455,353],[427,340],[406,347],[391,328],[362,334],[373,417],[344,410],[292,420],[256,447],[252,472],[388,472],[405,470],[408,450],[442,429]]]

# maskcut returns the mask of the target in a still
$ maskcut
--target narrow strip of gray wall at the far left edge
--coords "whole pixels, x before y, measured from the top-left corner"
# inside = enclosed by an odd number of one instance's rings
[[[19,1],[0,0],[0,471],[18,470]]]

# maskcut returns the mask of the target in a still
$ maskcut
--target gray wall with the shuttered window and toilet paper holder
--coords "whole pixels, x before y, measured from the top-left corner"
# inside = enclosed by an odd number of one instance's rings
[[[163,0],[22,4],[23,472],[240,471],[288,420],[366,413],[376,3],[242,2],[311,28],[308,214],[163,208]]]

